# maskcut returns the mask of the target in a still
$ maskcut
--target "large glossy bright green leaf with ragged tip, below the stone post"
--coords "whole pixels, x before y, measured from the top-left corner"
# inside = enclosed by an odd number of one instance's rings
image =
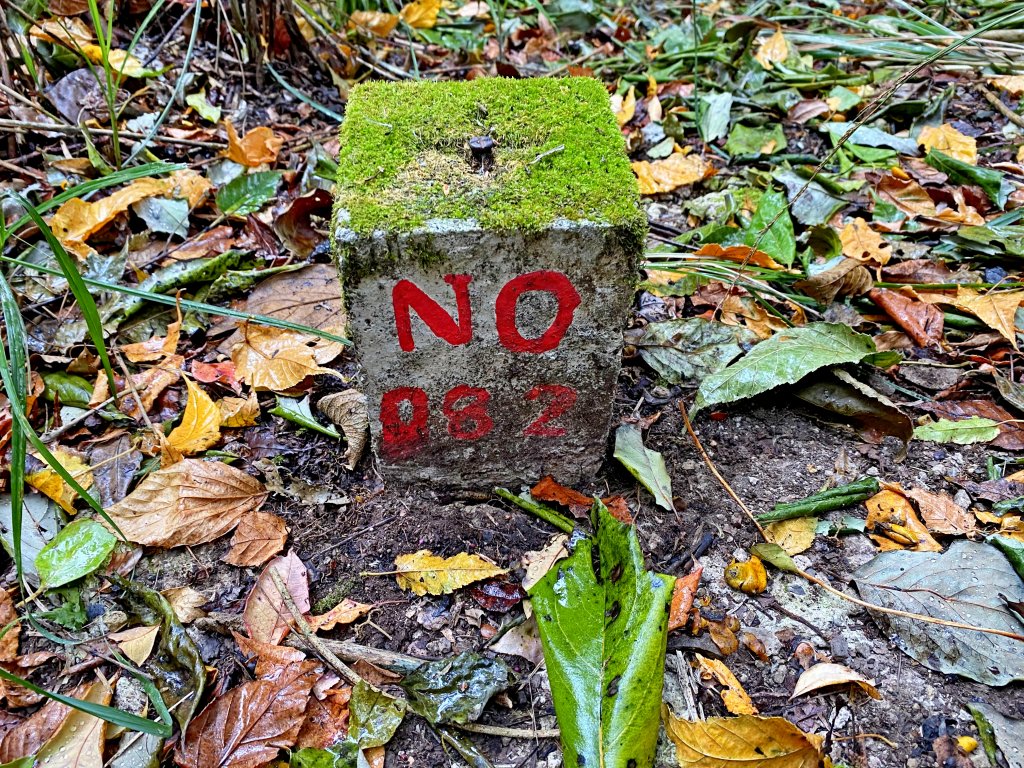
[[[530,589],[562,760],[588,768],[649,768],[675,579],[644,569],[636,530],[599,501],[593,518],[594,538],[578,542]]]

